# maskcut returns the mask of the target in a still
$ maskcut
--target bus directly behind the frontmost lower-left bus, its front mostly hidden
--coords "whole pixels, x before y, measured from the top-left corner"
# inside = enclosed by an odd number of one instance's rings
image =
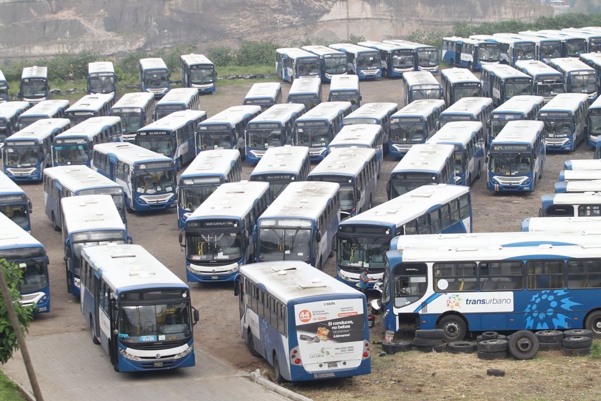
[[[111,195],[61,198],[67,292],[81,295],[81,251],[87,246],[131,239]]]

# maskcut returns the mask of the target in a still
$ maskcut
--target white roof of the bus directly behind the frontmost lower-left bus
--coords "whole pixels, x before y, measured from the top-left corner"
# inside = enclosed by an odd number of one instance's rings
[[[78,195],[61,198],[66,233],[123,230],[125,225],[111,195]]]

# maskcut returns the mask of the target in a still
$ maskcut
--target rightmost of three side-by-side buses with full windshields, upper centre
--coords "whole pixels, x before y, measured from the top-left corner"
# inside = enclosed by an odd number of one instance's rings
[[[328,155],[328,145],[342,127],[342,120],[350,114],[350,102],[325,102],[301,115],[294,121],[294,144],[309,147],[312,162],[322,161]]]

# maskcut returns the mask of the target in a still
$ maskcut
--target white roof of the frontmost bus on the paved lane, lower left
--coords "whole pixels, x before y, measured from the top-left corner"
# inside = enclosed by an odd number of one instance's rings
[[[140,245],[115,244],[86,246],[82,257],[119,294],[120,290],[148,289],[162,286],[188,286]]]

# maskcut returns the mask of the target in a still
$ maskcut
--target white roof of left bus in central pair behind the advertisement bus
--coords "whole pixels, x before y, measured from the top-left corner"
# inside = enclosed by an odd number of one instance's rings
[[[217,187],[192,212],[186,224],[195,220],[243,217],[269,191],[269,183],[258,181],[226,182]]]

